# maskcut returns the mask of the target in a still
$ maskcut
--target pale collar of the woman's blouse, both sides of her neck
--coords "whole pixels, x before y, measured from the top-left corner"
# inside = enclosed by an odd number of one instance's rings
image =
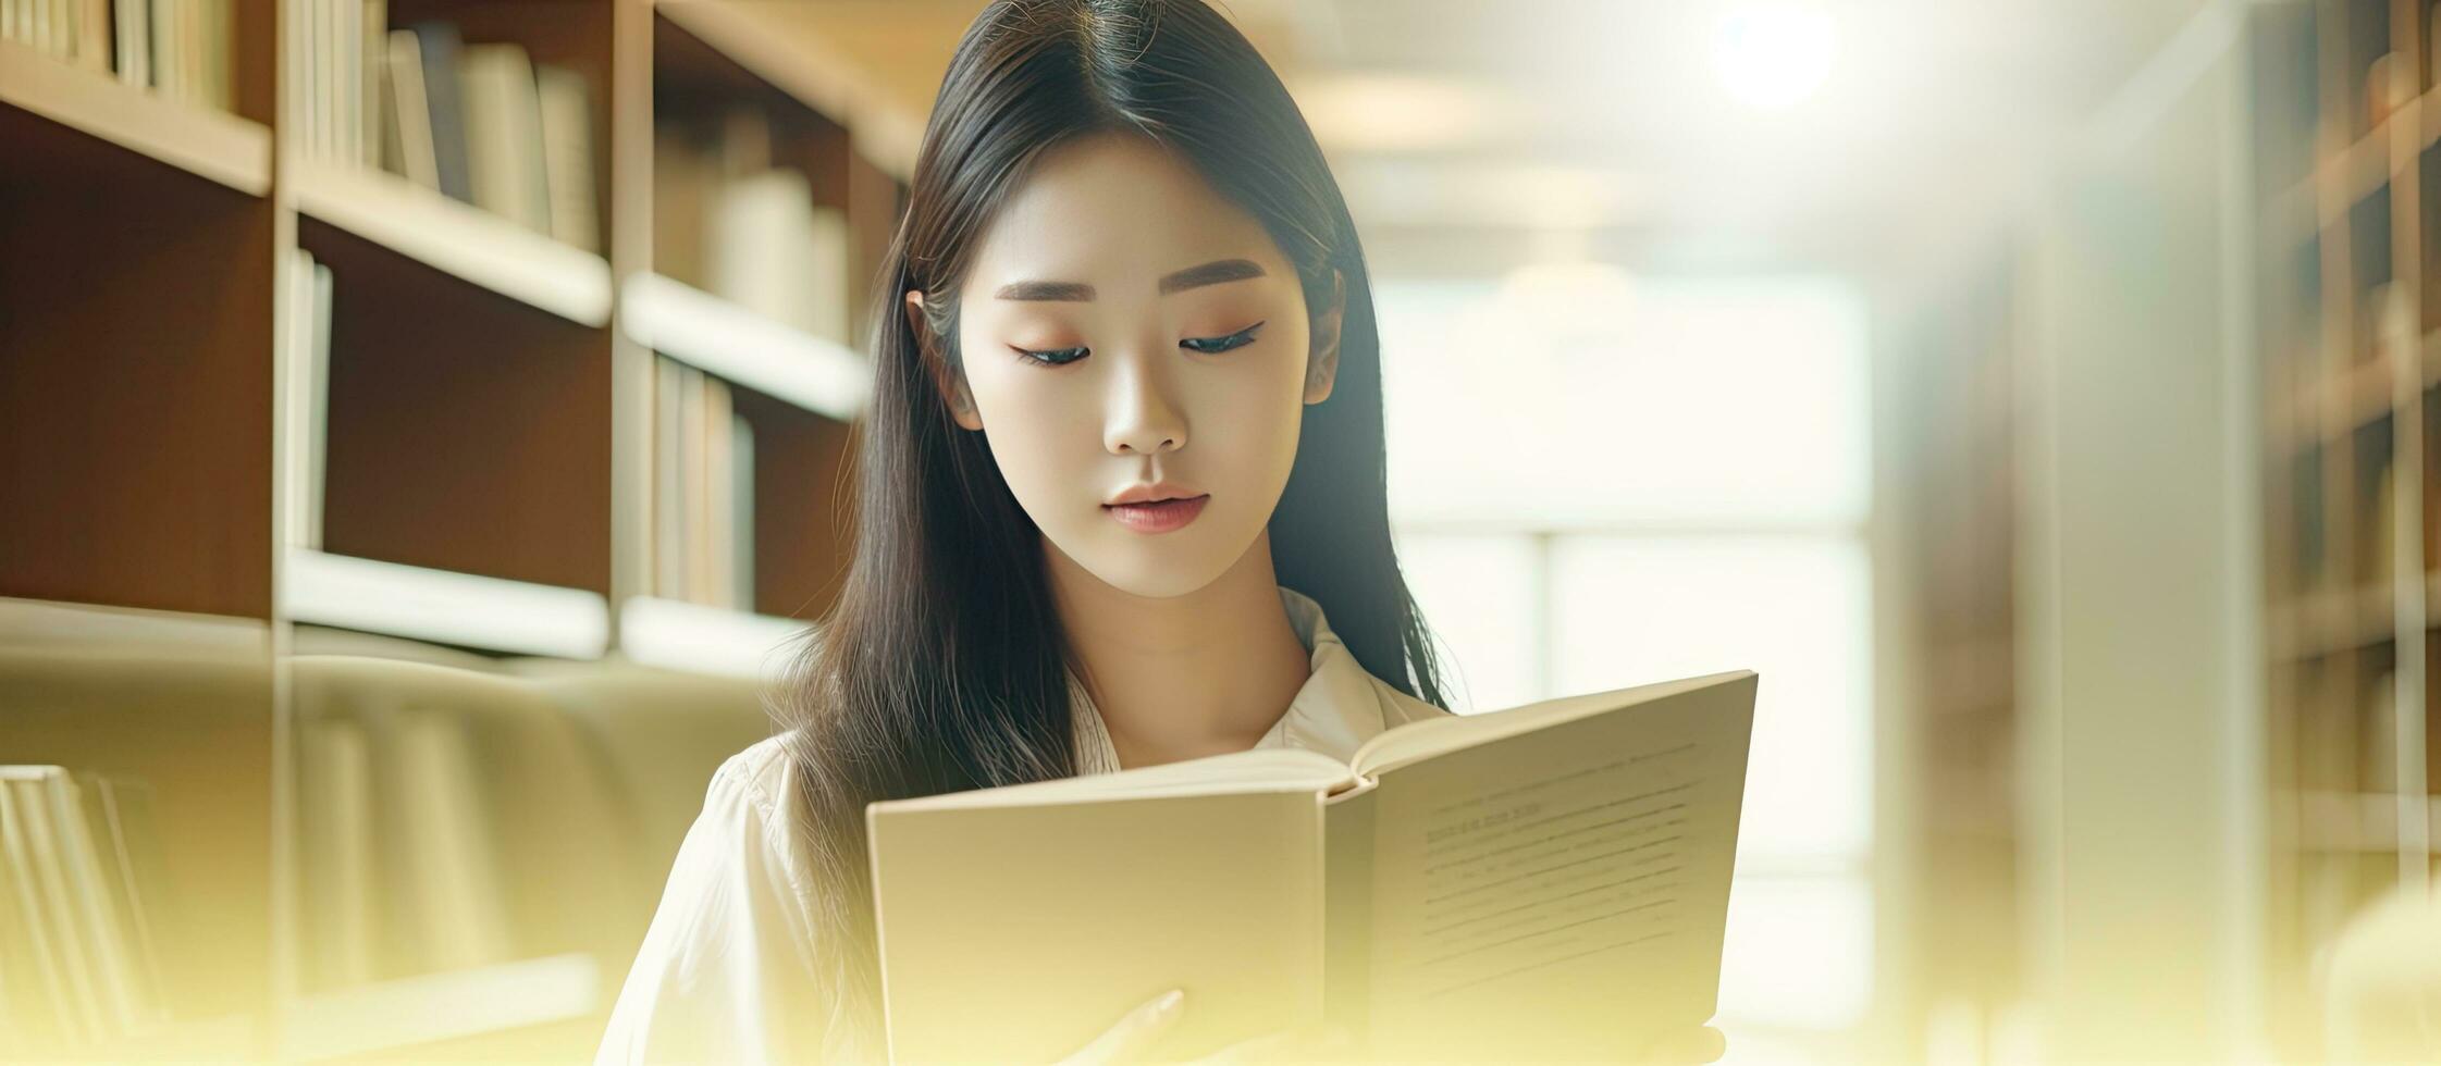
[[[1289,627],[1296,629],[1296,642],[1311,656],[1308,676],[1306,685],[1289,700],[1289,710],[1279,715],[1279,722],[1272,722],[1272,729],[1255,746],[1299,746],[1333,759],[1352,759],[1360,744],[1389,727],[1382,715],[1382,700],[1374,693],[1374,676],[1330,632],[1321,603],[1289,585],[1279,585],[1279,603],[1289,610]],[[1118,749],[1103,727],[1101,707],[1086,695],[1074,671],[1069,671],[1067,681],[1079,773],[1118,771]]]

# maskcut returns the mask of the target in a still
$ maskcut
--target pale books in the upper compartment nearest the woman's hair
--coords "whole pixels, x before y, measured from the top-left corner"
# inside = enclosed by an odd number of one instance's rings
[[[815,202],[781,166],[769,120],[732,110],[713,127],[654,124],[654,268],[771,322],[849,342],[847,212]]]

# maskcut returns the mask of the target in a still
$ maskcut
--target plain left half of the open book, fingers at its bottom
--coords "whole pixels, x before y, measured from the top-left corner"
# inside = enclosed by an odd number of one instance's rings
[[[867,817],[891,1061],[1055,1061],[1169,988],[1162,1061],[1321,1017],[1311,790]]]

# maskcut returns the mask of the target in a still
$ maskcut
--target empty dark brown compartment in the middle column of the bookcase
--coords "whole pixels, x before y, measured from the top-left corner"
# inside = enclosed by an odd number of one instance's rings
[[[322,546],[610,590],[610,339],[298,222],[332,268]]]

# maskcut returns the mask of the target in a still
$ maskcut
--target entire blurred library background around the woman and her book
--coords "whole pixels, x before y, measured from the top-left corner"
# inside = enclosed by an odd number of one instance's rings
[[[979,7],[0,0],[0,1054],[591,1056]],[[2441,1059],[2441,12],[1223,7],[1455,710],[1762,676],[1728,1061]]]

